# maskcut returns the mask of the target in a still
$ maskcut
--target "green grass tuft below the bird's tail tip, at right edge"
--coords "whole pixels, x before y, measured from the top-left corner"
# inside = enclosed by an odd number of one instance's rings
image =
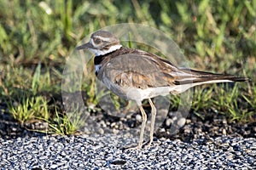
[[[196,89],[192,109],[195,113],[212,112],[223,114],[231,122],[254,122],[255,105],[247,102],[243,96],[241,84],[230,88],[228,84],[212,85],[207,90]],[[199,114],[200,115],[200,114]]]

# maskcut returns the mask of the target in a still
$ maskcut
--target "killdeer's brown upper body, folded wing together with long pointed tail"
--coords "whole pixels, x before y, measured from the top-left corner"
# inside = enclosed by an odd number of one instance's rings
[[[111,57],[112,56],[112,57]],[[111,80],[121,87],[155,88],[183,84],[201,84],[212,80],[245,81],[247,78],[226,76],[210,72],[177,68],[166,59],[147,52],[122,48],[108,56],[102,62],[102,79]]]

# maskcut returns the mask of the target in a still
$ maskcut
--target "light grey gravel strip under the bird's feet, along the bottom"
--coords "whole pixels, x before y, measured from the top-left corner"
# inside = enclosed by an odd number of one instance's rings
[[[124,137],[125,138],[125,137]],[[253,169],[256,139],[155,139],[143,150],[118,148],[117,136],[0,139],[2,169]],[[130,140],[130,139],[126,139]]]

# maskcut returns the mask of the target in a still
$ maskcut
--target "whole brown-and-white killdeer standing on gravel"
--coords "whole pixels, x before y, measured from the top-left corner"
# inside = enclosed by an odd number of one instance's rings
[[[135,100],[141,111],[143,122],[137,145],[143,146],[143,133],[147,115],[142,101],[148,99],[152,109],[150,139],[153,141],[156,109],[151,98],[158,95],[180,94],[197,85],[214,82],[243,82],[247,78],[234,77],[210,72],[178,68],[155,54],[133,48],[125,48],[119,38],[109,31],[96,31],[90,42],[77,49],[90,50],[94,58],[96,77],[119,97]]]

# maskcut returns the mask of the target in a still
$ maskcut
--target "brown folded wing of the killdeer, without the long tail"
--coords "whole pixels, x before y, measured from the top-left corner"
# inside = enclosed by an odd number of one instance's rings
[[[175,78],[168,74],[172,68],[171,65],[168,68],[163,65],[166,65],[165,62],[157,57],[131,53],[109,59],[108,63],[102,66],[102,71],[104,77],[121,87],[144,89],[170,86],[175,81]]]

